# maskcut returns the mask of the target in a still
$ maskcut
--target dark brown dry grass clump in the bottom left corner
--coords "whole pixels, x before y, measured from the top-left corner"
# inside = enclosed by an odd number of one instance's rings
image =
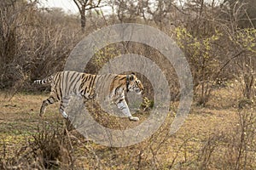
[[[41,122],[37,133],[27,144],[17,150],[15,156],[0,157],[1,169],[75,169],[73,143],[66,125]]]

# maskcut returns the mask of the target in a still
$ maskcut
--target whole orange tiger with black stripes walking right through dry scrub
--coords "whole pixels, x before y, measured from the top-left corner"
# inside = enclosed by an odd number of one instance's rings
[[[71,96],[82,97],[84,104],[95,99],[97,93],[101,93],[101,88],[108,87],[107,95],[119,111],[130,121],[139,121],[136,116],[131,116],[130,109],[125,101],[125,92],[136,92],[142,94],[143,83],[132,72],[129,75],[106,74],[93,75],[77,71],[59,71],[43,80],[34,81],[35,84],[50,84],[51,90],[49,98],[43,100],[39,116],[43,116],[48,105],[61,101],[59,111],[64,118],[68,118],[65,108],[67,107]],[[101,91],[102,90],[102,91]]]

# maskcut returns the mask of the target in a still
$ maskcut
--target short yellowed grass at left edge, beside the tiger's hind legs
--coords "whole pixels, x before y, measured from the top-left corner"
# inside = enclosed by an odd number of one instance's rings
[[[6,147],[7,156],[13,156],[15,150],[24,145],[28,139],[32,139],[32,134],[37,133],[38,124],[43,122],[38,116],[43,95],[16,94],[9,101],[5,92],[0,94],[0,139],[1,150],[3,144]],[[49,107],[45,121],[54,122],[61,117],[54,114],[57,111],[54,107]]]

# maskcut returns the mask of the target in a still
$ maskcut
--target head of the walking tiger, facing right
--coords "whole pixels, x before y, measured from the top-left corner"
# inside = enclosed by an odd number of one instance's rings
[[[126,89],[127,92],[136,92],[142,94],[144,87],[143,83],[132,72],[131,75],[126,76]]]

